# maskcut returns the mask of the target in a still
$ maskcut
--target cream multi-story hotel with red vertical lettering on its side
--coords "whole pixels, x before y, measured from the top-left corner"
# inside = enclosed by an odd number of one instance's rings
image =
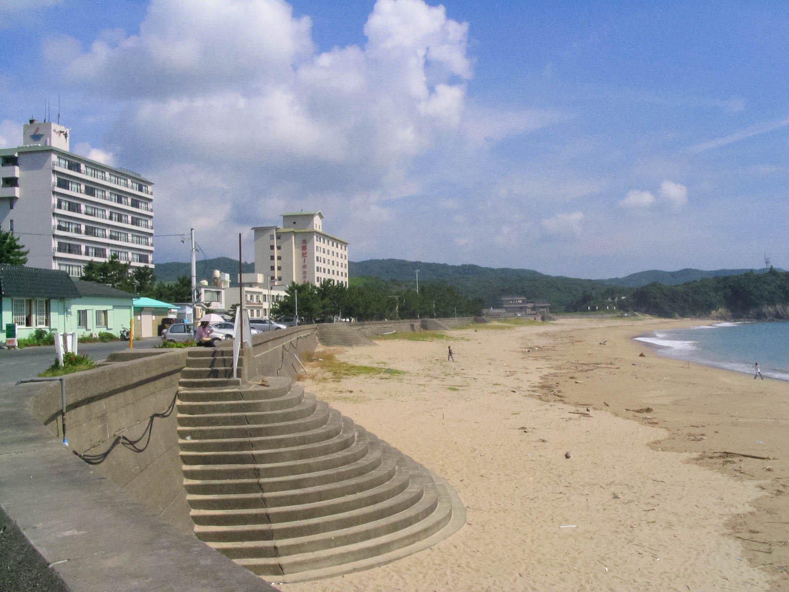
[[[348,242],[323,232],[320,212],[282,214],[282,227],[255,227],[255,272],[276,283],[324,279],[348,286]],[[274,283],[272,281],[272,283]]]

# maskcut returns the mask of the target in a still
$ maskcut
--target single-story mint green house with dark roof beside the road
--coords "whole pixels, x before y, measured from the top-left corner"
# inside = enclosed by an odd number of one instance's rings
[[[17,339],[30,337],[36,329],[118,335],[129,327],[133,298],[54,269],[0,265],[0,341],[6,340],[8,324],[16,324]]]

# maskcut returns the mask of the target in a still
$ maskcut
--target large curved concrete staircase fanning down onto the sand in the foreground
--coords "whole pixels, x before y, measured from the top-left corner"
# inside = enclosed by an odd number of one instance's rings
[[[289,378],[241,384],[190,350],[178,436],[195,534],[277,582],[384,564],[466,520],[454,489]]]

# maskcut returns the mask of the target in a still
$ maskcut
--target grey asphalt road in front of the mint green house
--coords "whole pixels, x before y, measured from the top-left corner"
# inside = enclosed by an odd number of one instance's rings
[[[134,349],[148,349],[162,343],[159,337],[135,339]],[[110,341],[107,343],[80,343],[77,353],[89,355],[94,362],[101,362],[115,351],[129,348],[127,341]],[[0,350],[0,389],[9,384],[16,384],[21,378],[38,376],[54,363],[54,346],[25,347],[21,350]]]

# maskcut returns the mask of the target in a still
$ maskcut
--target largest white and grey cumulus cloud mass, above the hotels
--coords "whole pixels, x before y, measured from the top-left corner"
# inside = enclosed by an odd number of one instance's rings
[[[320,209],[361,249],[396,202],[424,202],[466,163],[484,170],[492,144],[564,118],[469,104],[468,24],[443,6],[378,0],[366,43],[321,53],[311,28],[283,0],[151,0],[138,32],[84,49],[54,39],[45,55],[65,82],[122,105],[106,152],[155,182],[159,211],[188,196],[234,229]],[[453,198],[464,211],[468,199]]]

